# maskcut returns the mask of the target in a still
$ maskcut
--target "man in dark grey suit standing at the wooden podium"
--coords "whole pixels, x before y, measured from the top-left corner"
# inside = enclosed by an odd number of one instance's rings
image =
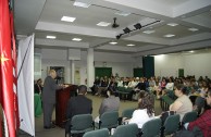
[[[49,71],[49,76],[46,77],[42,91],[42,108],[44,108],[44,128],[54,128],[51,123],[52,112],[55,105],[55,91],[62,87],[55,84],[54,78],[57,73],[54,70]]]

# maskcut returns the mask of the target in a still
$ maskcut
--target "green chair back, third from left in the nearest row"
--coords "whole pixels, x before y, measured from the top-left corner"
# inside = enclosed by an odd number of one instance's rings
[[[141,128],[141,137],[156,137],[160,135],[161,119],[153,119],[146,122]]]

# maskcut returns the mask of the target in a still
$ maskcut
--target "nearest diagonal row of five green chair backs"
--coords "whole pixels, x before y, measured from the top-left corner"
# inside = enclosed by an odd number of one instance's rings
[[[186,113],[182,124],[193,122],[197,119],[195,111]],[[162,125],[161,119],[148,121],[142,125],[141,130],[136,124],[120,125],[111,137],[164,137],[181,129],[179,115],[170,115]],[[98,129],[86,133],[83,137],[109,137],[109,129]]]

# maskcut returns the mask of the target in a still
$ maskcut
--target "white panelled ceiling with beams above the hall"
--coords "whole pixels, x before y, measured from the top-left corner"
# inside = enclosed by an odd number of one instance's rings
[[[74,2],[90,5],[80,8]],[[18,0],[14,1],[14,10],[17,38],[35,33],[35,45],[39,48],[94,48],[140,57],[211,47],[211,0]],[[120,12],[129,14],[116,14]],[[62,16],[76,20],[63,22]],[[120,25],[116,28],[112,28],[114,17]],[[111,24],[97,26],[99,22]],[[134,27],[137,23],[142,26],[140,29]],[[125,34],[126,27],[132,32]],[[57,38],[47,39],[47,35]]]

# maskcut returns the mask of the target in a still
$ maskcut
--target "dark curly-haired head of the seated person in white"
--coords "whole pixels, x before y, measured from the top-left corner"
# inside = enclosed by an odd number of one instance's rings
[[[140,102],[138,102],[138,109],[147,109],[147,113],[149,116],[152,116],[153,114],[153,104],[150,100],[150,98],[147,96],[141,99]]]

